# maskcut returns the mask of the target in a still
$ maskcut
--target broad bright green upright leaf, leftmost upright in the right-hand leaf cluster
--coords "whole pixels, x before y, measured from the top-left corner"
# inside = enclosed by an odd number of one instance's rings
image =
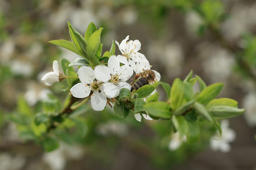
[[[182,82],[179,78],[174,80],[171,88],[171,108],[176,110],[181,105],[193,99],[193,88],[189,83]]]

